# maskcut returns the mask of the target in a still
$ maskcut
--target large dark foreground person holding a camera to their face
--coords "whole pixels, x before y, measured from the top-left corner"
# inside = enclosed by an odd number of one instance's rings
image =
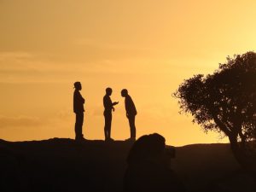
[[[137,139],[127,157],[125,192],[183,192],[183,183],[170,168],[172,155],[157,133]]]

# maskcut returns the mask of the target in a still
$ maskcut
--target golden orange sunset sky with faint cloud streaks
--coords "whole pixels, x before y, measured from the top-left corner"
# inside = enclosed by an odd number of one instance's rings
[[[247,0],[0,0],[0,138],[74,137],[73,82],[85,98],[84,135],[103,138],[102,97],[113,88],[112,137],[130,137],[120,90],[137,106],[137,137],[225,143],[179,114],[183,79],[255,50]]]

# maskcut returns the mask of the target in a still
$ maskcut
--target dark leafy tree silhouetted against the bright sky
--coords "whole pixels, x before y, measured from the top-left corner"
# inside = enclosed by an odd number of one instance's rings
[[[256,139],[256,54],[227,57],[213,74],[197,74],[173,94],[204,131],[224,133],[236,160],[252,168]]]

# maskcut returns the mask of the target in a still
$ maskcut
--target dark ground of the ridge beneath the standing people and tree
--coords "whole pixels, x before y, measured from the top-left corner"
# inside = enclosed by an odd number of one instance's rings
[[[122,191],[130,148],[131,143],[122,141],[0,140],[0,191]],[[172,169],[188,191],[256,191],[255,178],[242,172],[229,144],[195,144],[176,150]]]

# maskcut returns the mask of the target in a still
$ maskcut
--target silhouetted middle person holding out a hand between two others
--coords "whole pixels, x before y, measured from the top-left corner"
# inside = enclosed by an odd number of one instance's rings
[[[104,118],[105,118],[105,126],[104,126],[104,133],[105,133],[105,140],[106,141],[111,141],[113,140],[110,137],[111,134],[111,122],[112,122],[112,110],[114,111],[113,106],[117,105],[119,102],[112,102],[111,101],[111,96],[112,94],[112,89],[107,88],[106,89],[106,95],[103,97],[103,105],[104,105]]]

